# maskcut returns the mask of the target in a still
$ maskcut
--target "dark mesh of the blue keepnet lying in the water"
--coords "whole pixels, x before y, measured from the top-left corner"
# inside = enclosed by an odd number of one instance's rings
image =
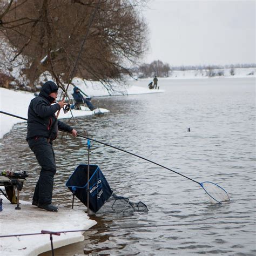
[[[129,198],[117,196],[112,194],[112,196],[105,202],[105,204],[97,212],[97,215],[105,213],[117,213],[117,214],[132,214],[133,212],[147,212],[149,209],[147,205],[139,201],[138,203],[131,202]]]

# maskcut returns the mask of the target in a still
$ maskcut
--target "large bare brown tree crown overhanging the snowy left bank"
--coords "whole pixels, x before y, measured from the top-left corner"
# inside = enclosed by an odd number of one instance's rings
[[[96,0],[17,0],[3,15],[0,32],[13,50],[11,62],[23,56],[31,86],[46,71],[59,86],[68,82],[88,32],[74,75],[111,88],[107,81],[122,79],[147,49],[139,12],[144,2],[101,0],[90,25]]]

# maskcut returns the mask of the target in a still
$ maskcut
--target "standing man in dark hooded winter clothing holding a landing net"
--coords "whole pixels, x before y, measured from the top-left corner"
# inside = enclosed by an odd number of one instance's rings
[[[55,112],[66,105],[65,100],[56,102],[58,86],[48,81],[38,97],[33,98],[28,110],[28,133],[26,140],[41,166],[41,172],[33,194],[32,205],[47,211],[57,212],[58,207],[52,205],[53,177],[56,173],[55,154],[52,140],[56,139],[58,129],[77,136],[77,131],[69,125],[56,120]]]

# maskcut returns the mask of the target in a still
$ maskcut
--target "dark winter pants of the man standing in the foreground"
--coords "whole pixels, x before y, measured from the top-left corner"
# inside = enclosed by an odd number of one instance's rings
[[[33,201],[39,205],[51,204],[53,190],[53,176],[56,173],[55,154],[52,144],[45,137],[29,139],[28,144],[34,152],[41,172],[36,184]]]

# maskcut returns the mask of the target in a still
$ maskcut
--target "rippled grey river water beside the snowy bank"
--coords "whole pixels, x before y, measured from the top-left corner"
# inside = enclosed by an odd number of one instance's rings
[[[147,86],[149,81],[131,83]],[[86,130],[92,138],[194,180],[217,183],[230,203],[213,205],[197,183],[92,142],[90,163],[99,165],[114,193],[143,201],[149,212],[92,215],[98,222],[93,228],[106,230],[88,231],[85,241],[56,255],[256,254],[255,79],[159,79],[159,86],[164,93],[98,98],[95,104],[110,113],[70,124],[80,134]],[[25,135],[21,123],[0,140],[0,163],[1,169],[29,172],[21,198],[31,200],[38,165]],[[65,183],[77,165],[87,162],[86,140],[60,133],[55,153],[53,203],[70,207]],[[76,200],[75,208],[85,206]],[[150,227],[132,228],[138,225]]]

